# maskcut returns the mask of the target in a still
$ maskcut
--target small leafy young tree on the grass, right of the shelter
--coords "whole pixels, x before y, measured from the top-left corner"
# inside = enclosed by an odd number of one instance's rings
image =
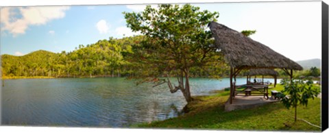
[[[313,87],[312,80],[306,82],[305,80],[284,79],[281,81],[281,84],[284,86],[284,90],[282,90],[282,93],[278,94],[278,97],[286,108],[295,108],[296,121],[297,106],[301,104],[307,107],[308,99],[314,99],[314,97],[319,95],[319,88]]]

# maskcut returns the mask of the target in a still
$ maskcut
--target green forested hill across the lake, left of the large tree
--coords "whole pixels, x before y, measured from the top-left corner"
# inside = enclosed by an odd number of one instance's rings
[[[52,53],[34,51],[25,56],[1,55],[4,77],[94,77],[121,76],[132,73],[125,56],[132,53],[141,36],[99,40],[92,45],[80,45],[74,51]]]

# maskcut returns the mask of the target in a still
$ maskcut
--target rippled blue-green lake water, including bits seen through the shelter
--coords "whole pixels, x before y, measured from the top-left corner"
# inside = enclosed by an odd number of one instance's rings
[[[245,84],[245,78],[237,78]],[[265,79],[273,82],[273,79]],[[173,80],[174,81],[174,80]],[[230,80],[191,78],[192,95],[230,86]],[[152,88],[123,77],[5,80],[3,125],[128,127],[177,117],[186,101],[167,84]],[[176,83],[177,85],[177,83]]]

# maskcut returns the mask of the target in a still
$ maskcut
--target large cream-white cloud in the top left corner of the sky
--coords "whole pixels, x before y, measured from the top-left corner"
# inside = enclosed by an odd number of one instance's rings
[[[29,25],[45,25],[53,19],[64,18],[66,10],[69,7],[1,8],[1,30],[13,36],[25,34]]]

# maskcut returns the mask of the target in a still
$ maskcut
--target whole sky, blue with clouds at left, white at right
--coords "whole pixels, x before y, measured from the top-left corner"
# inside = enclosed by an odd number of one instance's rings
[[[199,3],[219,12],[219,23],[239,32],[256,29],[251,38],[291,58],[321,58],[321,2]],[[154,5],[155,6],[155,5]],[[73,51],[101,39],[132,36],[122,12],[145,5],[73,5],[1,8],[1,54]]]

